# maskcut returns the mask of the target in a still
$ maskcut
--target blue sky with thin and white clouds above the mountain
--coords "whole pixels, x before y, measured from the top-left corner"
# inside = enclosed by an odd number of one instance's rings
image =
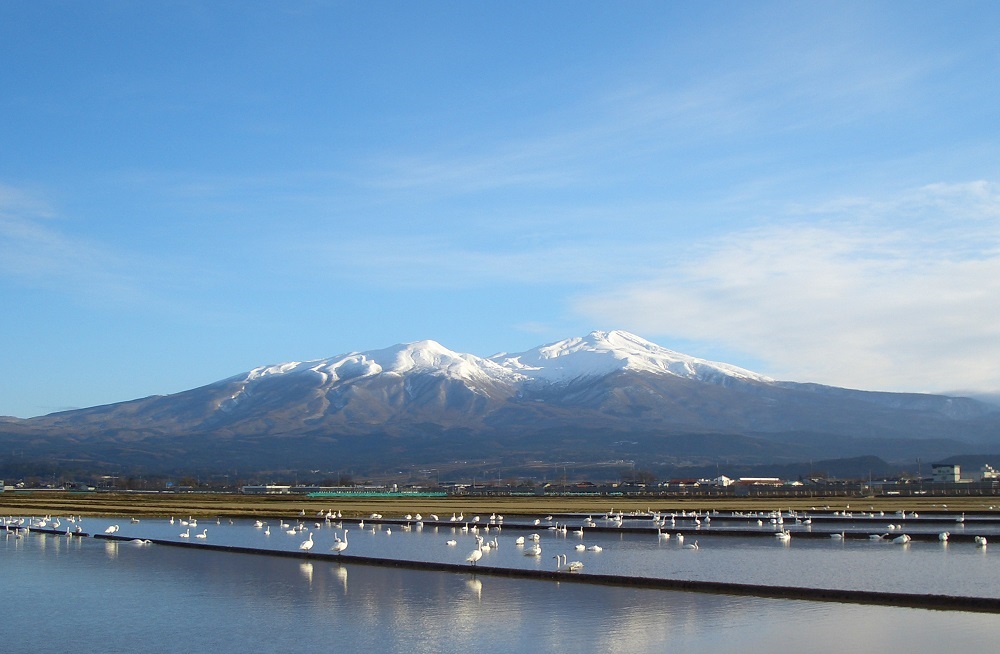
[[[624,329],[1000,391],[1000,4],[0,2],[0,415]]]

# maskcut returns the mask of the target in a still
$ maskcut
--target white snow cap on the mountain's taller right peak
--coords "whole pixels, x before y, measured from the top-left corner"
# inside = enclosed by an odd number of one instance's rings
[[[526,378],[550,382],[604,376],[621,370],[700,381],[720,377],[773,381],[736,366],[680,354],[620,330],[594,331],[582,338],[568,338],[521,354],[498,354],[491,360]]]

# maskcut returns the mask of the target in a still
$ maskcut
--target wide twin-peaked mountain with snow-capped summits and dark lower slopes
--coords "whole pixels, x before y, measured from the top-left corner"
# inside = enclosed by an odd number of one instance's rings
[[[418,341],[0,423],[0,445],[26,444],[39,455],[243,468],[457,457],[933,458],[1000,451],[1000,411],[965,398],[780,382],[595,331],[488,358]]]

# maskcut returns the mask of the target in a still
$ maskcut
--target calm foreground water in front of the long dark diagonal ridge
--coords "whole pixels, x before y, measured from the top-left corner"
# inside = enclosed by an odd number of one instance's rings
[[[106,651],[122,634],[131,643],[176,643],[181,630],[197,635],[186,643],[191,650],[213,654],[261,651],[275,634],[293,634],[297,650],[329,651],[331,633],[338,649],[408,654],[707,651],[733,643],[770,652],[791,633],[806,634],[803,648],[812,652],[992,651],[1000,628],[994,615],[505,577],[484,584],[461,573],[73,543],[0,541],[0,578],[18,589],[4,606],[0,639],[69,630],[73,649]]]

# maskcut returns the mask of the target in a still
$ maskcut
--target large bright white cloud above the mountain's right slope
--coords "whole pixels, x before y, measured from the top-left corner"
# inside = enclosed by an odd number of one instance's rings
[[[937,184],[805,213],[703,244],[576,309],[746,352],[795,381],[1000,388],[1000,187]]]

